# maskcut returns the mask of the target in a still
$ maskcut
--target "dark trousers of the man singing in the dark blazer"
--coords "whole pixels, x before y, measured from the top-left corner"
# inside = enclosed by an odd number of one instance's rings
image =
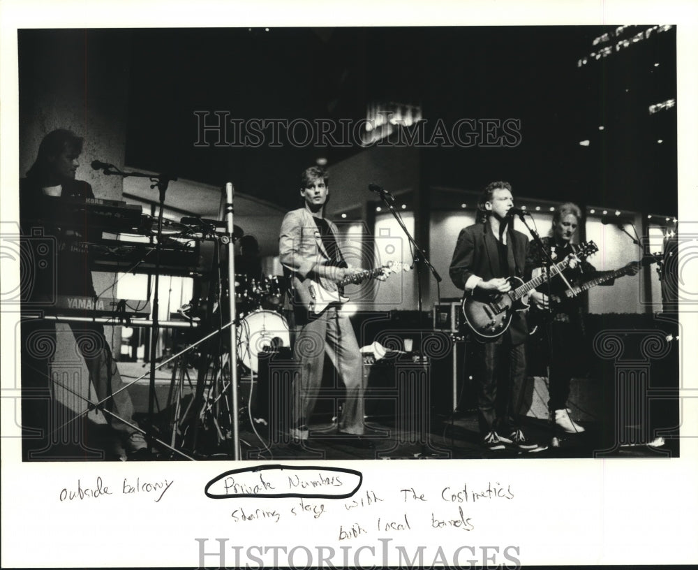
[[[510,339],[475,343],[479,371],[475,378],[480,433],[492,430],[508,435],[517,429],[519,393],[526,372],[526,352],[523,344],[511,344]]]

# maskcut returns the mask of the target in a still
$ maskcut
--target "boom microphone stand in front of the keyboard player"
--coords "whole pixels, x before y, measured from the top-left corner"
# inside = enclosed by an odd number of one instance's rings
[[[114,168],[114,170],[110,170],[109,167]],[[160,328],[160,318],[158,316],[158,310],[160,308],[160,295],[158,293],[158,288],[160,286],[160,252],[162,249],[163,240],[163,210],[165,209],[165,193],[168,190],[168,184],[170,183],[170,181],[174,182],[175,180],[177,180],[177,177],[168,174],[151,175],[139,172],[124,172],[122,170],[119,170],[116,166],[109,165],[109,167],[103,168],[102,171],[105,175],[117,175],[121,176],[122,178],[126,178],[128,176],[136,178],[149,178],[149,180],[153,182],[153,184],[151,184],[150,186],[151,189],[157,187],[159,191],[158,205],[160,206],[160,209],[158,211],[158,231],[156,233],[155,244],[155,291],[153,295],[153,325],[151,328],[150,337],[150,384],[148,390],[148,423],[149,431],[152,435],[154,423],[153,416],[155,411],[155,350],[158,344],[158,330]],[[151,438],[148,438],[148,451],[152,451]]]

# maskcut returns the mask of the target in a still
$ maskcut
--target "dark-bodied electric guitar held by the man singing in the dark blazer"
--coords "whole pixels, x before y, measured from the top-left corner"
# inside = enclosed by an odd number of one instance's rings
[[[551,268],[552,277],[563,272],[575,256],[585,258],[599,251],[594,242],[580,244],[579,250],[570,254],[563,261]],[[493,339],[505,333],[512,322],[514,311],[522,311],[528,307],[528,294],[537,286],[547,281],[545,274],[533,277],[524,283],[519,277],[509,277],[512,286],[507,293],[488,293],[475,287],[473,294],[463,298],[463,316],[470,330],[482,339]]]

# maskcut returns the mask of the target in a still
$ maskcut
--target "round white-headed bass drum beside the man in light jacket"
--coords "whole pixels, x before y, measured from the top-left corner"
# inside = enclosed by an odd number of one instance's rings
[[[237,358],[252,372],[259,372],[260,353],[274,352],[290,346],[288,323],[274,311],[256,311],[248,314],[238,328]]]

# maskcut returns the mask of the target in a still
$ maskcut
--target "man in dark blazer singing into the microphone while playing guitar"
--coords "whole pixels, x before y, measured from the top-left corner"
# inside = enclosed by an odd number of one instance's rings
[[[511,185],[491,182],[480,198],[478,223],[461,230],[449,273],[465,295],[507,293],[512,288],[507,277],[523,277],[528,238],[512,228],[507,212],[513,205]],[[483,445],[493,451],[505,444],[537,447],[524,437],[514,409],[514,390],[522,386],[526,372],[527,334],[525,319],[514,312],[503,335],[484,341],[476,337],[478,422]]]

